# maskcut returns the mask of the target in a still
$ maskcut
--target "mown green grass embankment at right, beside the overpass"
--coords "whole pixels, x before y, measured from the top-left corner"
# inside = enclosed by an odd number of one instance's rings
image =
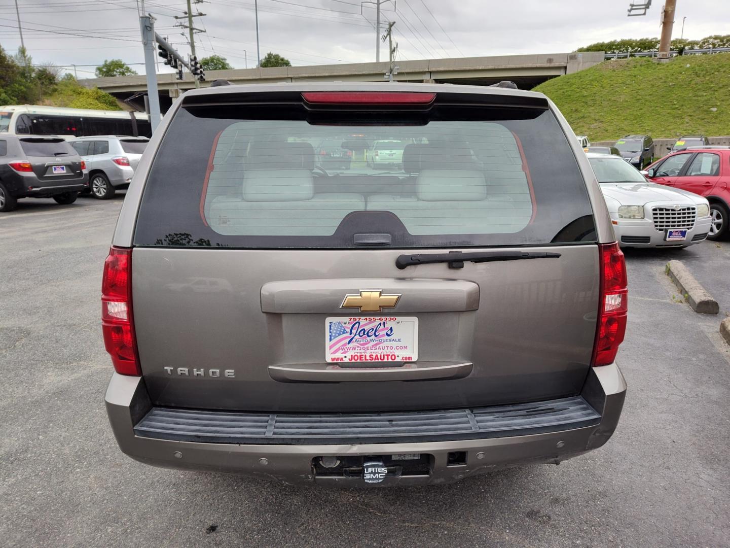
[[[553,99],[576,134],[730,134],[730,53],[604,61],[534,88]],[[717,110],[711,110],[715,108]]]

